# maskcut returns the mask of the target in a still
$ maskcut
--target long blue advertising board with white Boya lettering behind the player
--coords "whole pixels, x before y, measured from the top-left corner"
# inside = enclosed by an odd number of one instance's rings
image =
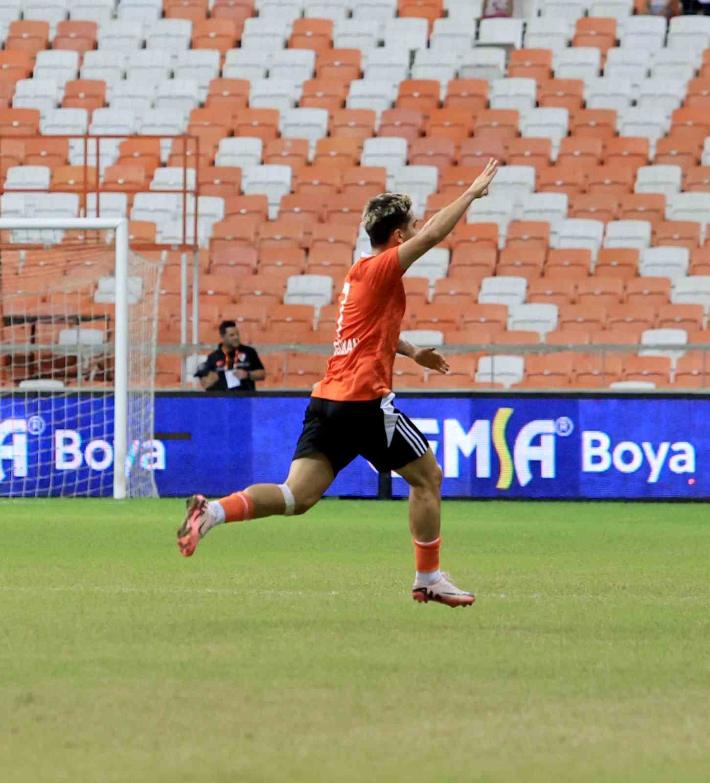
[[[0,495],[58,496],[79,485],[85,494],[110,495],[106,411],[92,415],[91,393],[76,392],[75,420],[55,428],[53,407],[65,397],[0,395]],[[126,467],[140,455],[139,469],[154,472],[162,496],[220,496],[281,482],[306,405],[306,394],[158,393],[154,439],[129,444]],[[710,498],[702,469],[710,456],[708,395],[496,390],[404,394],[398,405],[429,439],[446,497]],[[358,459],[327,494],[373,498],[380,483]],[[401,478],[391,479],[391,493],[406,496]]]

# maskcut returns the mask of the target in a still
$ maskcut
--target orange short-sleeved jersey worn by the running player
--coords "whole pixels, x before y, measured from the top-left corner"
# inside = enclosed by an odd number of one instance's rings
[[[391,392],[406,305],[403,274],[397,247],[351,266],[338,299],[333,355],[314,397],[368,400]]]

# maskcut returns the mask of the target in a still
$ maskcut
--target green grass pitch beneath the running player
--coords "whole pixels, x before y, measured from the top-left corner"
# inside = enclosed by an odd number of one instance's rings
[[[4,783],[710,778],[706,506],[447,502],[454,610],[403,502],[181,520],[0,501]]]

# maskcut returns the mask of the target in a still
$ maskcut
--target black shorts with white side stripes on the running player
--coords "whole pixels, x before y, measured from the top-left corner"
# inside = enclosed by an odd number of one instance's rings
[[[395,395],[366,402],[335,402],[312,397],[294,460],[320,452],[337,475],[356,456],[377,471],[396,471],[422,456],[427,438],[392,405]]]

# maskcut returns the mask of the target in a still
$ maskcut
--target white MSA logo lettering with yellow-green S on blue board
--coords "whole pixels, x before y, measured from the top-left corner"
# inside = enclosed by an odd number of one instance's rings
[[[533,462],[539,462],[541,478],[555,478],[555,439],[571,435],[574,424],[568,417],[528,421],[518,431],[511,449],[507,427],[513,413],[514,408],[499,408],[492,420],[475,420],[469,430],[458,419],[444,419],[443,433],[438,419],[412,420],[424,435],[443,435],[444,478],[460,477],[461,456],[474,456],[476,478],[492,478],[493,451],[499,462],[496,489],[510,489],[514,478],[521,486],[528,485],[533,478],[530,469]],[[431,441],[430,445],[436,454],[439,443]]]

